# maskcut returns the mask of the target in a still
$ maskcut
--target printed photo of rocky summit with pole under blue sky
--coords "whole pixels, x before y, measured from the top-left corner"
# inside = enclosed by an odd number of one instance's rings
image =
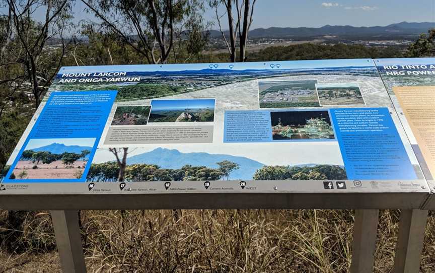
[[[214,120],[214,99],[153,100],[149,122]]]

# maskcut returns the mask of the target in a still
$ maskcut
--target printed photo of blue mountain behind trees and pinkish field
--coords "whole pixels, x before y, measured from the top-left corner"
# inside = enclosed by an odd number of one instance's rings
[[[11,179],[79,179],[88,164],[95,138],[31,139]]]

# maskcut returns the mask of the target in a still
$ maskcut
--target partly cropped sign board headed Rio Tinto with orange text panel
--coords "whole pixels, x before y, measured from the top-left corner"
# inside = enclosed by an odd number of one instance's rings
[[[377,59],[375,63],[435,192],[435,58]]]

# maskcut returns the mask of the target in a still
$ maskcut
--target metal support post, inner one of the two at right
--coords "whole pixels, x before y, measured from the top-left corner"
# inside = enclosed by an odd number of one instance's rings
[[[379,210],[355,210],[351,273],[372,273],[375,260]]]

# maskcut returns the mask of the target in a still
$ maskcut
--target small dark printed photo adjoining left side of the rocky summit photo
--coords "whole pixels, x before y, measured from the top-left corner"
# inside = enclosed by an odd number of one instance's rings
[[[146,125],[151,106],[118,106],[111,125]]]

